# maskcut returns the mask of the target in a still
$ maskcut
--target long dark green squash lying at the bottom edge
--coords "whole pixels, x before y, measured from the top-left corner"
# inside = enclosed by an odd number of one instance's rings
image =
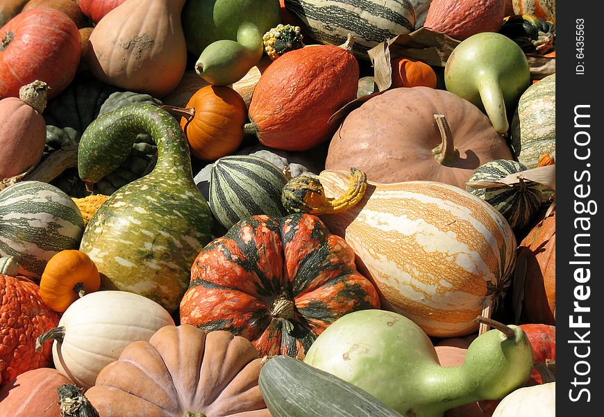
[[[358,386],[286,355],[262,363],[258,386],[274,417],[402,417]]]

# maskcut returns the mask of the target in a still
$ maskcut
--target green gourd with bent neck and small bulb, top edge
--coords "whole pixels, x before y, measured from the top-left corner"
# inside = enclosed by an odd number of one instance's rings
[[[280,22],[278,0],[187,1],[181,13],[187,50],[208,83],[228,85],[256,65],[262,35]]]

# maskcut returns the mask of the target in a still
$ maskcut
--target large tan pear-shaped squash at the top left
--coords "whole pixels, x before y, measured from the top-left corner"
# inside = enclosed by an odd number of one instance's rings
[[[90,34],[87,63],[104,83],[167,95],[181,81],[187,47],[181,25],[185,0],[126,0]]]

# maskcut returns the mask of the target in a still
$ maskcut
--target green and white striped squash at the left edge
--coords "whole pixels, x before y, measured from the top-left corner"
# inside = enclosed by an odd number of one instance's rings
[[[0,256],[14,256],[17,274],[40,279],[47,262],[77,249],[84,220],[62,190],[42,181],[22,181],[0,192]]]

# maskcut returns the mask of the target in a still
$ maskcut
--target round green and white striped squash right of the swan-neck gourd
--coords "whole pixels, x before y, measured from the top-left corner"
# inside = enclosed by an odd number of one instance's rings
[[[210,170],[210,209],[227,230],[251,215],[283,217],[281,190],[286,183],[276,165],[258,156],[223,156]]]

